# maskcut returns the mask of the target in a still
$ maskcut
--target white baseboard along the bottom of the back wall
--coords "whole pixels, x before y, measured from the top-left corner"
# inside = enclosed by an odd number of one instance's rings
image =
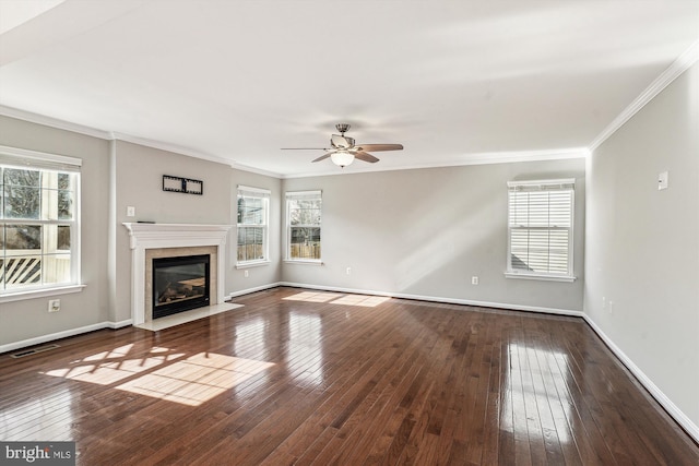
[[[568,316],[574,316],[574,318],[583,316],[582,311],[573,311],[570,309],[542,308],[536,306],[520,306],[520,304],[511,304],[506,302],[474,301],[471,299],[411,295],[405,292],[388,292],[388,291],[377,291],[377,290],[369,290],[369,289],[342,288],[342,287],[335,287],[335,286],[310,285],[310,284],[292,283],[292,282],[281,282],[277,284],[277,286],[291,286],[294,288],[305,288],[305,289],[321,289],[323,291],[353,292],[358,295],[386,296],[389,298],[415,299],[418,301],[445,302],[448,304],[464,304],[464,306],[474,306],[478,308],[507,309],[510,311],[537,312],[537,313],[544,313],[544,314],[568,315]]]

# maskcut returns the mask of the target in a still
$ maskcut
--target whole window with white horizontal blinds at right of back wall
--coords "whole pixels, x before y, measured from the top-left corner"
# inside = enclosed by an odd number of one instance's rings
[[[508,183],[508,277],[572,280],[574,180]]]

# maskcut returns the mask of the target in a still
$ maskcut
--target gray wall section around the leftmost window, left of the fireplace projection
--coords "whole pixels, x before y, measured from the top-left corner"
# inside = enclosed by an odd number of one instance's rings
[[[0,116],[0,145],[81,158],[82,279],[86,287],[58,296],[61,311],[48,313],[49,298],[0,303],[0,347],[14,342],[98,324],[107,320],[109,143]]]

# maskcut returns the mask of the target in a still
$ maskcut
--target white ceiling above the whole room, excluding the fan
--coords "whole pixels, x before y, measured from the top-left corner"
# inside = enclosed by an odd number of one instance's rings
[[[347,172],[574,153],[699,38],[699,0],[43,3],[0,36],[5,115],[279,176],[341,170],[280,150],[336,122],[405,146]]]

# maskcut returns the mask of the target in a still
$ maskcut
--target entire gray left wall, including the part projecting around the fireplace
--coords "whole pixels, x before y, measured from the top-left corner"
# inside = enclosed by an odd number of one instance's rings
[[[81,270],[83,291],[61,295],[61,311],[47,312],[50,297],[0,304],[0,348],[47,339],[76,330],[119,325],[131,318],[131,250],[125,222],[235,225],[236,187],[272,191],[271,264],[235,268],[235,228],[226,251],[226,295],[264,288],[281,280],[281,180],[213,162],[106,141],[9,117],[0,117],[0,145],[78,157],[82,167]],[[204,181],[204,194],[162,190],[162,176]],[[135,217],[127,217],[127,206]]]

